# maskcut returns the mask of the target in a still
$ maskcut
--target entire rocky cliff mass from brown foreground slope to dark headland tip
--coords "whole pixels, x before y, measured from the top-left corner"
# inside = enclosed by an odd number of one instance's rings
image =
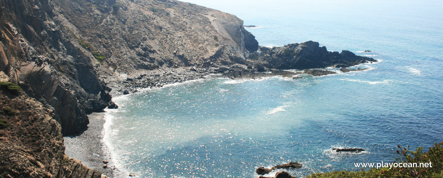
[[[5,177],[101,175],[63,155],[62,134],[81,133],[87,113],[116,107],[113,93],[234,68],[370,61],[316,42],[259,48],[236,16],[173,0],[0,0],[0,73],[24,91],[0,95],[2,108],[14,108],[2,112],[0,169]]]

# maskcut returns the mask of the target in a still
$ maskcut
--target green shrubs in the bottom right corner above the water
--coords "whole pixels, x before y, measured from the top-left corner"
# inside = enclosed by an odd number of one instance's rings
[[[357,172],[351,171],[334,171],[327,173],[315,173],[309,178],[323,177],[443,177],[443,142],[435,143],[433,147],[429,147],[429,151],[423,153],[423,147],[418,147],[416,151],[409,151],[407,147],[398,145],[397,154],[402,156],[399,163],[408,163],[420,165],[431,162],[432,167],[393,167],[372,168]],[[394,162],[395,163],[395,162]]]

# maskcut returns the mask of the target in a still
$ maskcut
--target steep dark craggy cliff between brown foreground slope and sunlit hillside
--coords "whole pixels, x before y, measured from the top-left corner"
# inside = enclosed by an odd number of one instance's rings
[[[31,97],[53,107],[64,134],[86,128],[86,113],[110,102],[91,53],[61,31],[45,0],[1,0],[0,70]]]

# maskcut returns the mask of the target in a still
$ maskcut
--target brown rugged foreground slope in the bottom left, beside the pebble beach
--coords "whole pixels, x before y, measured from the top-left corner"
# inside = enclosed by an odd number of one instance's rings
[[[53,110],[9,84],[0,83],[0,177],[102,177],[64,155]]]

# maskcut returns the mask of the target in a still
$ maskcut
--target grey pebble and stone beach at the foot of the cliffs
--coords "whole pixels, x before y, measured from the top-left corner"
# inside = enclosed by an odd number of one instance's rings
[[[355,67],[355,66],[353,66]],[[169,75],[167,74],[167,72]],[[272,70],[270,70],[272,71]],[[156,77],[155,79],[151,79],[151,81],[148,81],[148,86],[145,88],[140,87],[141,83],[131,83],[131,82],[124,82],[125,78],[130,78],[135,76],[141,76],[143,74],[146,74],[146,71],[137,71],[131,74],[125,74],[124,77],[120,77],[119,79],[109,80],[107,79],[107,84],[111,83],[114,84],[112,86],[112,92],[113,98],[123,96],[125,94],[122,94],[121,92],[123,90],[130,90],[129,93],[136,93],[141,90],[147,89],[147,88],[162,88],[163,86],[174,84],[174,83],[183,83],[186,81],[196,80],[196,79],[204,79],[207,78],[210,74],[221,74],[220,71],[216,70],[205,70],[205,69],[197,69],[196,71],[192,70],[186,70],[186,69],[162,69],[162,70],[156,70],[156,71],[149,71],[149,74],[159,74],[164,73],[167,75],[160,75],[159,77]],[[186,77],[180,76],[185,75]],[[175,77],[170,76],[180,76],[180,79],[184,80],[177,80]],[[331,75],[331,74],[329,74]],[[334,74],[332,74],[334,75]],[[276,75],[278,76],[278,75]],[[238,79],[244,79],[244,78],[236,78],[233,80]],[[251,78],[254,79],[254,78]],[[120,85],[117,86],[116,85]],[[108,146],[106,145],[104,141],[104,127],[106,123],[105,118],[106,111],[100,111],[100,112],[93,112],[91,114],[88,114],[89,118],[89,124],[87,130],[84,132],[73,135],[73,136],[65,136],[64,137],[64,144],[65,144],[65,154],[68,155],[70,158],[74,158],[77,160],[80,160],[82,164],[89,168],[93,168],[99,171],[102,171],[102,174],[108,176],[108,177],[128,177],[128,175],[125,175],[125,172],[120,171],[115,163],[113,162],[112,153],[110,153],[110,150]],[[98,144],[97,144],[98,143]],[[98,156],[98,157],[97,157]],[[107,162],[107,167],[104,168],[103,164],[104,162]]]

